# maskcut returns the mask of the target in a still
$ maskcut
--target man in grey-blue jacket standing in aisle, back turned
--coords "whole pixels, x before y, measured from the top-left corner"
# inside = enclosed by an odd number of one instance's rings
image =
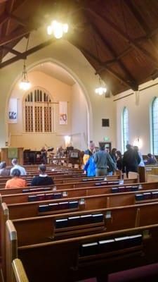
[[[106,176],[107,166],[110,166],[112,171],[117,169],[110,154],[105,152],[105,145],[100,145],[99,151],[94,154],[94,163],[96,164],[96,176]]]

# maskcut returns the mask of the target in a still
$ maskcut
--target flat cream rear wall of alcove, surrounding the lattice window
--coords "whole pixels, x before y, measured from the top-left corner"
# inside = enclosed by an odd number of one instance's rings
[[[11,98],[18,99],[18,123],[9,124],[8,132],[11,133],[11,147],[25,147],[27,149],[41,149],[45,144],[48,147],[58,147],[65,145],[65,135],[71,133],[71,99],[72,87],[60,80],[56,80],[45,73],[39,71],[32,71],[29,73],[29,81],[32,83],[32,89],[41,87],[51,95],[53,102],[66,101],[67,102],[67,125],[59,124],[59,104],[53,104],[53,133],[25,133],[24,126],[24,99],[25,95],[29,93],[23,92],[19,89],[19,82],[15,84],[11,92]]]

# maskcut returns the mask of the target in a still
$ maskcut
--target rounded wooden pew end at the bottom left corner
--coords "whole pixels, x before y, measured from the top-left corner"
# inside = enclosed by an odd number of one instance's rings
[[[25,273],[24,266],[20,259],[14,259],[12,262],[13,282],[29,282]]]

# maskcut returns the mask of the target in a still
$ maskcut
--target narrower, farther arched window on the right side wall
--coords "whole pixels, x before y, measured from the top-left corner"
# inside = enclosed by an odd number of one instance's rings
[[[123,149],[126,151],[126,145],[129,143],[129,112],[126,107],[122,113],[122,136],[123,136]]]

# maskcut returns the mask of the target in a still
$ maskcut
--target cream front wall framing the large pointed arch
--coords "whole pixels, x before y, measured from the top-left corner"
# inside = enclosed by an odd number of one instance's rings
[[[32,36],[34,36],[33,43],[35,45],[36,42],[39,42],[41,35],[37,32],[37,35],[34,34]],[[32,37],[29,42],[32,43]],[[104,136],[109,136],[112,146],[114,146],[115,125],[112,99],[105,99],[95,94],[94,89],[98,85],[98,78],[96,78],[95,70],[85,59],[84,55],[69,42],[59,40],[28,56],[27,69],[31,70],[33,66],[45,61],[52,61],[65,68],[73,76],[74,80],[77,80],[83,90],[89,112],[89,139],[97,143],[103,140]],[[21,72],[22,61],[13,63],[0,70],[0,147],[5,147],[5,142],[8,140],[8,99],[11,96],[15,83],[20,79]],[[102,118],[110,118],[110,128],[101,127]]]

